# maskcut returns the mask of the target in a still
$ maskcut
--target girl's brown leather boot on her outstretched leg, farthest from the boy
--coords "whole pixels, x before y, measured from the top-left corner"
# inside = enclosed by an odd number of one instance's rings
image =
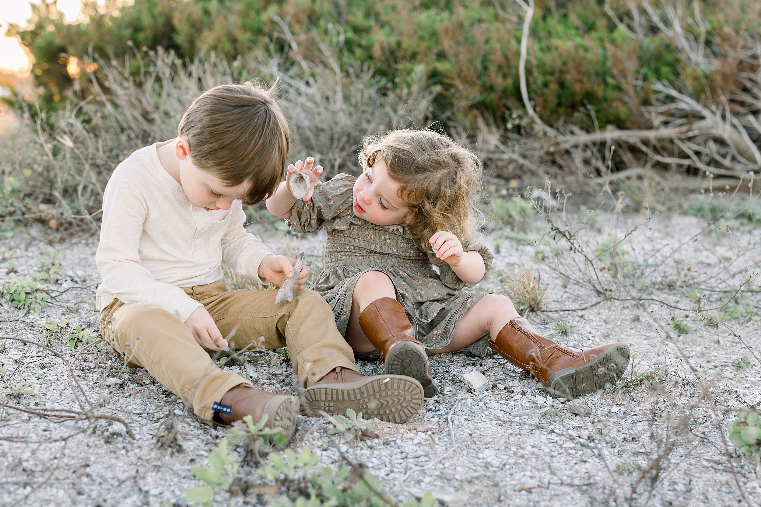
[[[552,397],[572,400],[610,387],[629,365],[626,343],[607,343],[592,349],[569,349],[540,335],[528,320],[505,324],[489,346],[500,356],[540,379]]]

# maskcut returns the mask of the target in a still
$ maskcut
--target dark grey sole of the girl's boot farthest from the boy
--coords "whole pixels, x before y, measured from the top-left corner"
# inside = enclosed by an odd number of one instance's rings
[[[616,384],[629,366],[629,346],[616,343],[583,365],[556,371],[547,381],[553,398],[573,400],[582,394],[594,393]]]

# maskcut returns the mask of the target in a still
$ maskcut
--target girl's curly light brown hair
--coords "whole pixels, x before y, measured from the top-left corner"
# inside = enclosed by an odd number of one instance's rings
[[[359,154],[362,169],[367,171],[378,158],[400,183],[400,197],[409,206],[405,222],[423,250],[433,251],[428,240],[436,231],[449,231],[467,244],[476,229],[473,196],[482,169],[476,155],[430,129],[396,129],[365,139]]]

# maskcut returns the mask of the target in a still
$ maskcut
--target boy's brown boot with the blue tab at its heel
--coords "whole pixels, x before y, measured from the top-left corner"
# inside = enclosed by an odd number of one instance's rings
[[[291,440],[296,431],[296,416],[298,416],[298,398],[272,394],[260,389],[254,389],[249,384],[240,384],[224,393],[221,403],[212,405],[215,419],[224,424],[232,424],[251,416],[253,422],[260,422],[267,414],[267,428],[282,428],[283,435]]]

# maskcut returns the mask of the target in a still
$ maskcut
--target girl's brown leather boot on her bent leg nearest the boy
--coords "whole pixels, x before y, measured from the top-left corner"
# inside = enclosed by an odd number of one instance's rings
[[[380,352],[386,373],[415,378],[422,385],[427,398],[438,393],[438,387],[431,377],[431,365],[428,364],[425,346],[415,340],[412,325],[399,301],[380,298],[371,302],[359,314],[359,327]]]

